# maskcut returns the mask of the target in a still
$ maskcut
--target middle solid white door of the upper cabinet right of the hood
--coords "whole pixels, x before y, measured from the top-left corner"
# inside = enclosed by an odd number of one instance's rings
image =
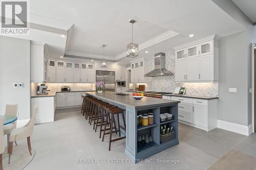
[[[186,64],[186,81],[199,80],[199,63],[198,57],[187,59]]]

